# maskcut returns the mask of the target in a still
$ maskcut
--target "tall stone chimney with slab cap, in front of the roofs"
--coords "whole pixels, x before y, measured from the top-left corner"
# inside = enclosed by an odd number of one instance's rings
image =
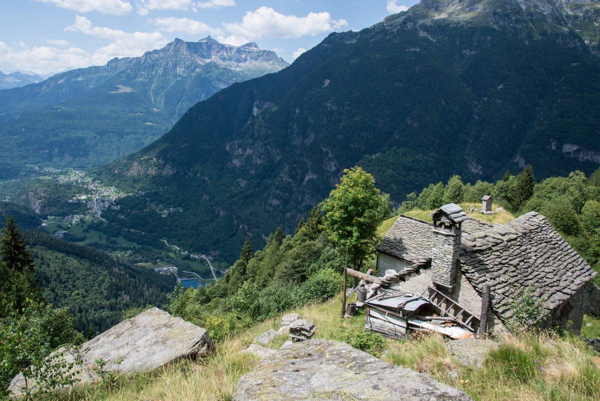
[[[458,268],[462,222],[467,215],[460,206],[448,204],[434,211],[431,217],[434,234],[431,276],[434,284],[451,290]]]

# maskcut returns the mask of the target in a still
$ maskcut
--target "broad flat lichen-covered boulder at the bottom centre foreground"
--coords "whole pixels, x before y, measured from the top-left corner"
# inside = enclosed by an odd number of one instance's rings
[[[281,348],[244,375],[234,401],[467,401],[467,394],[346,343],[308,340]],[[472,400],[471,400],[472,401]]]

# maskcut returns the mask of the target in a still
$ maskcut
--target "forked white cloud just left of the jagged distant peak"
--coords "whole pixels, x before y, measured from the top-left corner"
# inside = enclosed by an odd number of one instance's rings
[[[95,61],[103,62],[114,57],[140,56],[148,50],[158,49],[169,42],[160,32],[129,33],[104,26],[92,26],[92,22],[82,16],[75,17],[75,23],[67,26],[65,31],[76,31],[111,40],[112,43],[97,49],[92,56]]]

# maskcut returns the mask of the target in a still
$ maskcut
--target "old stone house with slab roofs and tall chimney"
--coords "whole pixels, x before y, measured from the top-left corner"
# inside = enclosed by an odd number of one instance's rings
[[[579,331],[584,313],[600,314],[600,289],[591,281],[596,272],[541,214],[489,225],[448,204],[431,216],[432,223],[398,217],[377,247],[377,275],[392,289],[424,294],[433,287],[479,318],[487,285],[488,330],[496,333],[523,288],[544,302],[544,327]]]

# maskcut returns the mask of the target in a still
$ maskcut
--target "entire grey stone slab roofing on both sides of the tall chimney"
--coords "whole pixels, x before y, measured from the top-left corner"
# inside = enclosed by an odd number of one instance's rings
[[[433,225],[401,215],[377,250],[415,264],[431,259]],[[575,294],[596,272],[539,213],[524,214],[505,225],[480,220],[463,222],[460,268],[481,294],[489,285],[492,309],[511,318],[515,292],[535,289],[536,297],[553,310]]]

